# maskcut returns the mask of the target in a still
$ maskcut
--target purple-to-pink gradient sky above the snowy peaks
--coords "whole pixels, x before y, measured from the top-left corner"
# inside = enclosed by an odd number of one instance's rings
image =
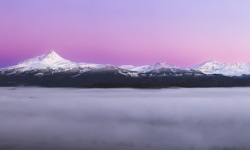
[[[250,62],[249,0],[0,0],[0,67],[50,50],[76,62]]]

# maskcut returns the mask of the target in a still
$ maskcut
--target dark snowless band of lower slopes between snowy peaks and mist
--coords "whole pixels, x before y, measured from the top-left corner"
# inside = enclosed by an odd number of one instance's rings
[[[0,86],[87,87],[87,88],[165,88],[165,87],[245,87],[250,86],[250,76],[229,77],[223,75],[154,75],[137,77],[114,71],[90,71],[86,73],[45,71],[17,74],[0,74]]]

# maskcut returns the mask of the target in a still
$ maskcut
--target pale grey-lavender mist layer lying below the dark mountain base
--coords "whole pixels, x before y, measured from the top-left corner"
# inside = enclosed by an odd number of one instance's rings
[[[0,150],[247,150],[250,88],[0,88]]]

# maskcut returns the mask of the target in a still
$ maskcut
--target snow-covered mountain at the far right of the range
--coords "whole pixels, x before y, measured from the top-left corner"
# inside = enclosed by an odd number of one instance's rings
[[[216,61],[207,61],[192,69],[201,71],[205,74],[222,74],[225,76],[250,75],[250,63],[226,64]]]

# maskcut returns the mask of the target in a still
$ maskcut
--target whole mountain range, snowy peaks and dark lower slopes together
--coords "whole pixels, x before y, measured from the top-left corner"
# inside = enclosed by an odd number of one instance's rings
[[[248,86],[249,76],[250,63],[226,64],[207,61],[189,68],[169,65],[166,62],[144,66],[114,66],[71,62],[55,51],[50,51],[15,66],[0,69],[0,86]]]

